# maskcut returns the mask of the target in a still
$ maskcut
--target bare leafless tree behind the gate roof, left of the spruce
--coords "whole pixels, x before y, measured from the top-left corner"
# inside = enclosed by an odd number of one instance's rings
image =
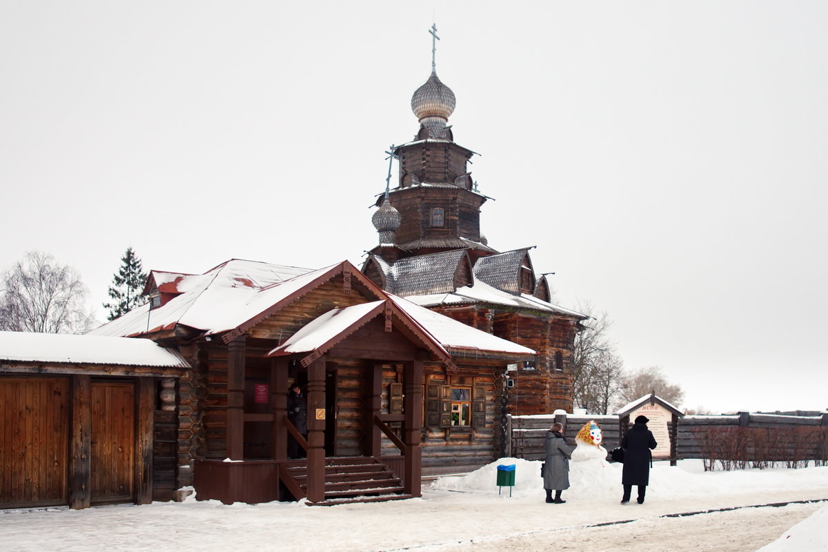
[[[0,329],[82,334],[95,324],[80,276],[48,253],[27,252],[0,276]]]

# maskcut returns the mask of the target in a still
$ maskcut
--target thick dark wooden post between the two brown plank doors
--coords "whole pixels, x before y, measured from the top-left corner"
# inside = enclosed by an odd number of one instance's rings
[[[72,377],[69,506],[88,508],[92,502],[92,380]]]

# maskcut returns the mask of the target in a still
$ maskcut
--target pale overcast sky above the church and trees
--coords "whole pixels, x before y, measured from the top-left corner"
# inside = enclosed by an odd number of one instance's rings
[[[490,245],[686,407],[828,407],[826,2],[0,0],[0,268],[361,263],[432,21]]]

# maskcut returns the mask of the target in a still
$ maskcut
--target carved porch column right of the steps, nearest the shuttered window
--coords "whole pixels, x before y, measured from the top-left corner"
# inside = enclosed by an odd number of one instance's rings
[[[404,409],[406,421],[402,440],[406,444],[405,492],[421,496],[422,451],[420,450],[420,431],[422,425],[422,361],[415,360],[404,364],[405,382]]]

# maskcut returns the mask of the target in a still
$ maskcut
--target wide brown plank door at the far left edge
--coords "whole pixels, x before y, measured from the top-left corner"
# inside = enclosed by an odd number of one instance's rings
[[[0,508],[67,502],[69,379],[0,376]]]

